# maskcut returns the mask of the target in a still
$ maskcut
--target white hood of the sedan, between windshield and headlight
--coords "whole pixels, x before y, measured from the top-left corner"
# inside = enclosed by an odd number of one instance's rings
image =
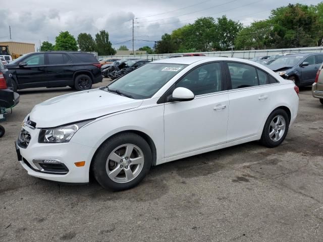
[[[100,89],[74,92],[37,104],[30,112],[36,128],[57,127],[140,106],[142,100]]]

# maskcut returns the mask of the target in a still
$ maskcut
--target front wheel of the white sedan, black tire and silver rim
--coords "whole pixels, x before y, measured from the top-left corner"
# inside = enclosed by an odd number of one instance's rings
[[[148,143],[139,135],[124,133],[101,145],[94,157],[92,170],[103,188],[122,191],[138,185],[148,173],[151,162],[152,154]]]

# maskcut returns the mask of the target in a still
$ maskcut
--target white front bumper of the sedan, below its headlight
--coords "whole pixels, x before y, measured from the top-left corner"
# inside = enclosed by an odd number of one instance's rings
[[[20,145],[18,141],[16,150],[20,164],[29,175],[62,183],[88,183],[94,148],[72,141],[61,144],[41,144],[38,143],[39,129],[27,126],[23,129],[30,134],[31,138],[27,146]],[[48,169],[43,170],[37,164],[39,160],[57,160],[61,163],[61,167],[66,168],[65,172],[53,172],[52,167],[49,169],[48,166]],[[79,161],[85,161],[85,165],[77,167],[75,162]]]

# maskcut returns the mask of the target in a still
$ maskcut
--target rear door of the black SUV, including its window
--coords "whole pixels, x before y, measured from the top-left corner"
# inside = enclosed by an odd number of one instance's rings
[[[74,65],[66,53],[47,53],[46,67],[48,87],[73,85]]]

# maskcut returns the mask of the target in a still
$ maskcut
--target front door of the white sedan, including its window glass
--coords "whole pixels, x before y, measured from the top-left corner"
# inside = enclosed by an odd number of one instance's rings
[[[172,89],[177,87],[190,89],[195,98],[165,103],[165,158],[226,143],[229,100],[220,63],[195,68]]]

